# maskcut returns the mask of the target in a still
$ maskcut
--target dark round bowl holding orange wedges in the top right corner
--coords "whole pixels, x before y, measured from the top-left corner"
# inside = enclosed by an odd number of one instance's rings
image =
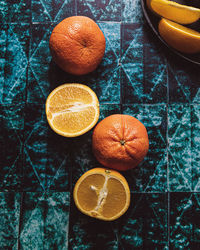
[[[200,2],[199,0],[177,0],[176,2],[181,3],[181,4],[185,4],[185,5],[190,5],[190,6],[194,6],[194,7],[200,7]],[[155,14],[153,14],[147,7],[146,5],[146,0],[141,0],[141,5],[142,5],[142,9],[143,9],[143,13],[144,16],[146,18],[147,23],[149,24],[149,26],[151,27],[151,29],[153,30],[153,32],[155,33],[155,35],[160,39],[160,41],[165,44],[165,46],[170,49],[172,52],[174,52],[176,55],[180,56],[181,58],[194,63],[196,65],[200,66],[200,53],[197,54],[185,54],[182,52],[179,52],[175,49],[173,49],[172,47],[170,47],[160,36],[159,31],[158,31],[158,23],[160,21],[160,17],[156,16]],[[192,28],[198,32],[200,32],[200,21],[195,22],[193,24],[187,25],[187,27]]]

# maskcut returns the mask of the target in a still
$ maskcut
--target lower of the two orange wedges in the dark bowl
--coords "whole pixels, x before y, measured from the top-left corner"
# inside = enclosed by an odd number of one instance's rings
[[[183,53],[200,52],[200,33],[162,18],[158,25],[161,37],[174,49]]]

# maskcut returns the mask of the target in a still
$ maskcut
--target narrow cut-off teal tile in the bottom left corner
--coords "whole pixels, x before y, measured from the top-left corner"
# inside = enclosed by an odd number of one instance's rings
[[[0,249],[18,249],[20,194],[0,192]]]

